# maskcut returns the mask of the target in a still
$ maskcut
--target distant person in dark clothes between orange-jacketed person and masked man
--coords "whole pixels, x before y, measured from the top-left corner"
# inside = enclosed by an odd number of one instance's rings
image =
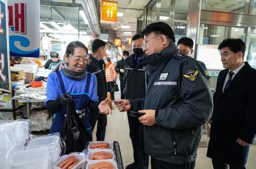
[[[123,85],[123,73],[124,73],[124,60],[129,57],[129,51],[124,50],[123,51],[123,58],[117,62],[116,64],[116,72],[119,73],[119,79],[120,79],[120,88],[121,88],[121,99],[124,99],[124,95],[123,95],[123,89],[124,89],[124,85]]]

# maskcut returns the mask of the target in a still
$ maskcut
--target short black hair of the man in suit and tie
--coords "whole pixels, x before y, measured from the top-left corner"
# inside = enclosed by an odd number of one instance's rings
[[[223,47],[228,47],[234,53],[241,51],[244,57],[246,45],[242,39],[234,39],[234,38],[224,39],[218,46],[218,49],[221,50]]]

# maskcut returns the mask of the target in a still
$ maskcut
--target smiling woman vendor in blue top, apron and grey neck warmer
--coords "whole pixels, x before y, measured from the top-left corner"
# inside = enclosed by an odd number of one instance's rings
[[[112,114],[106,103],[108,99],[98,102],[97,79],[94,74],[86,72],[88,48],[83,43],[69,43],[65,61],[60,62],[47,79],[45,105],[54,114],[50,133],[61,133],[67,114],[67,102],[74,100],[78,117],[92,136],[89,111],[99,110],[100,114]]]

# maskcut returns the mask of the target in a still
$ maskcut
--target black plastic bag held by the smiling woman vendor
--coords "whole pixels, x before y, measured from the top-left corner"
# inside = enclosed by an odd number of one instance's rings
[[[82,152],[87,142],[92,140],[91,135],[84,127],[76,113],[74,101],[68,101],[67,116],[61,132],[61,137],[66,143],[66,153]]]

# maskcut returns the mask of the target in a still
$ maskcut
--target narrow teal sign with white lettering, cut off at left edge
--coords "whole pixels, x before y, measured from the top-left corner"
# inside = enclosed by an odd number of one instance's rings
[[[0,0],[0,90],[11,92],[7,1]]]

